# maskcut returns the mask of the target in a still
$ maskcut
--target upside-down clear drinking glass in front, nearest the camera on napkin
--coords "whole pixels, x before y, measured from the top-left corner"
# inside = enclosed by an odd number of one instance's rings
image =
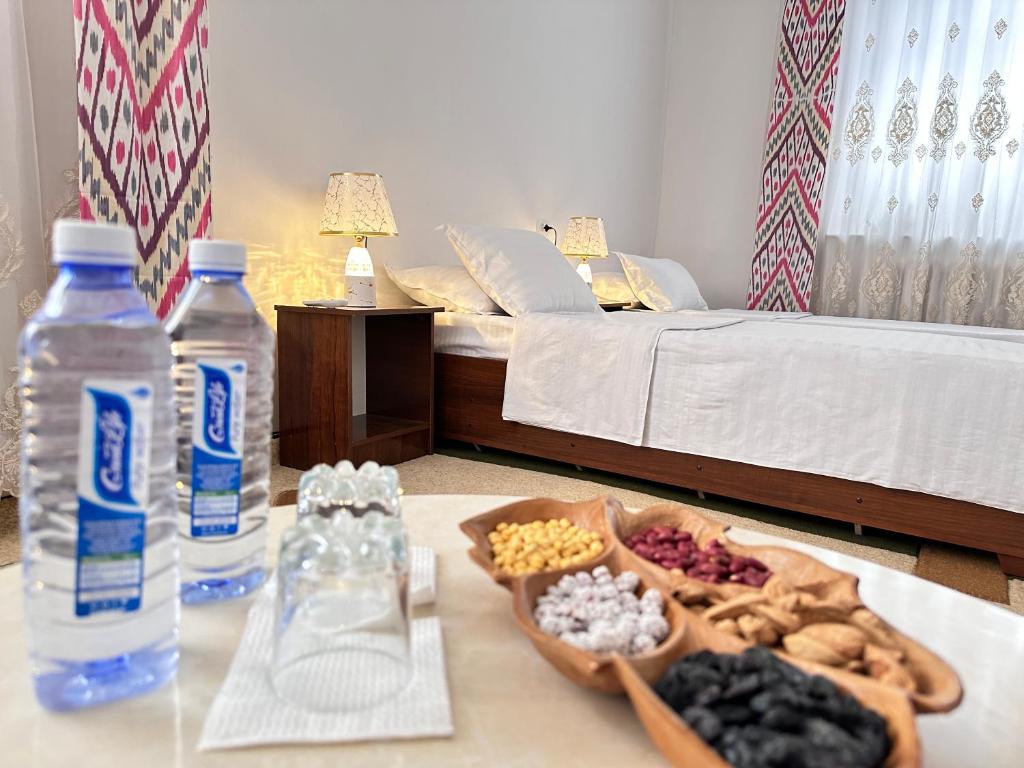
[[[278,563],[271,684],[319,712],[374,707],[412,678],[409,560],[401,518],[310,514]]]

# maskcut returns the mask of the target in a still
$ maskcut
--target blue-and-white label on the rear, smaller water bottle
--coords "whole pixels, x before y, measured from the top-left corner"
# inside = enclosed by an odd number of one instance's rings
[[[196,361],[191,482],[194,538],[239,532],[247,372],[245,360]]]

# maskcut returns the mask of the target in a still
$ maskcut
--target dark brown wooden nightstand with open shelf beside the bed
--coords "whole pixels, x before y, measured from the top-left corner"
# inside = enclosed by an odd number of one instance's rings
[[[433,315],[441,307],[274,309],[282,465],[397,464],[433,452]],[[362,338],[366,413],[353,415]]]

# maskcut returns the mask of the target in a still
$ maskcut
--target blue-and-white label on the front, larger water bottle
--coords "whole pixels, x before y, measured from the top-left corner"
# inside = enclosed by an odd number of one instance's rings
[[[150,501],[153,386],[82,383],[75,614],[138,610]]]

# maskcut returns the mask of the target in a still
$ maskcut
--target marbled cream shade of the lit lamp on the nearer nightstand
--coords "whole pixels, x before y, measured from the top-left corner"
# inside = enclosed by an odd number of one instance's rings
[[[332,173],[324,199],[321,234],[387,238],[398,233],[379,173]]]

